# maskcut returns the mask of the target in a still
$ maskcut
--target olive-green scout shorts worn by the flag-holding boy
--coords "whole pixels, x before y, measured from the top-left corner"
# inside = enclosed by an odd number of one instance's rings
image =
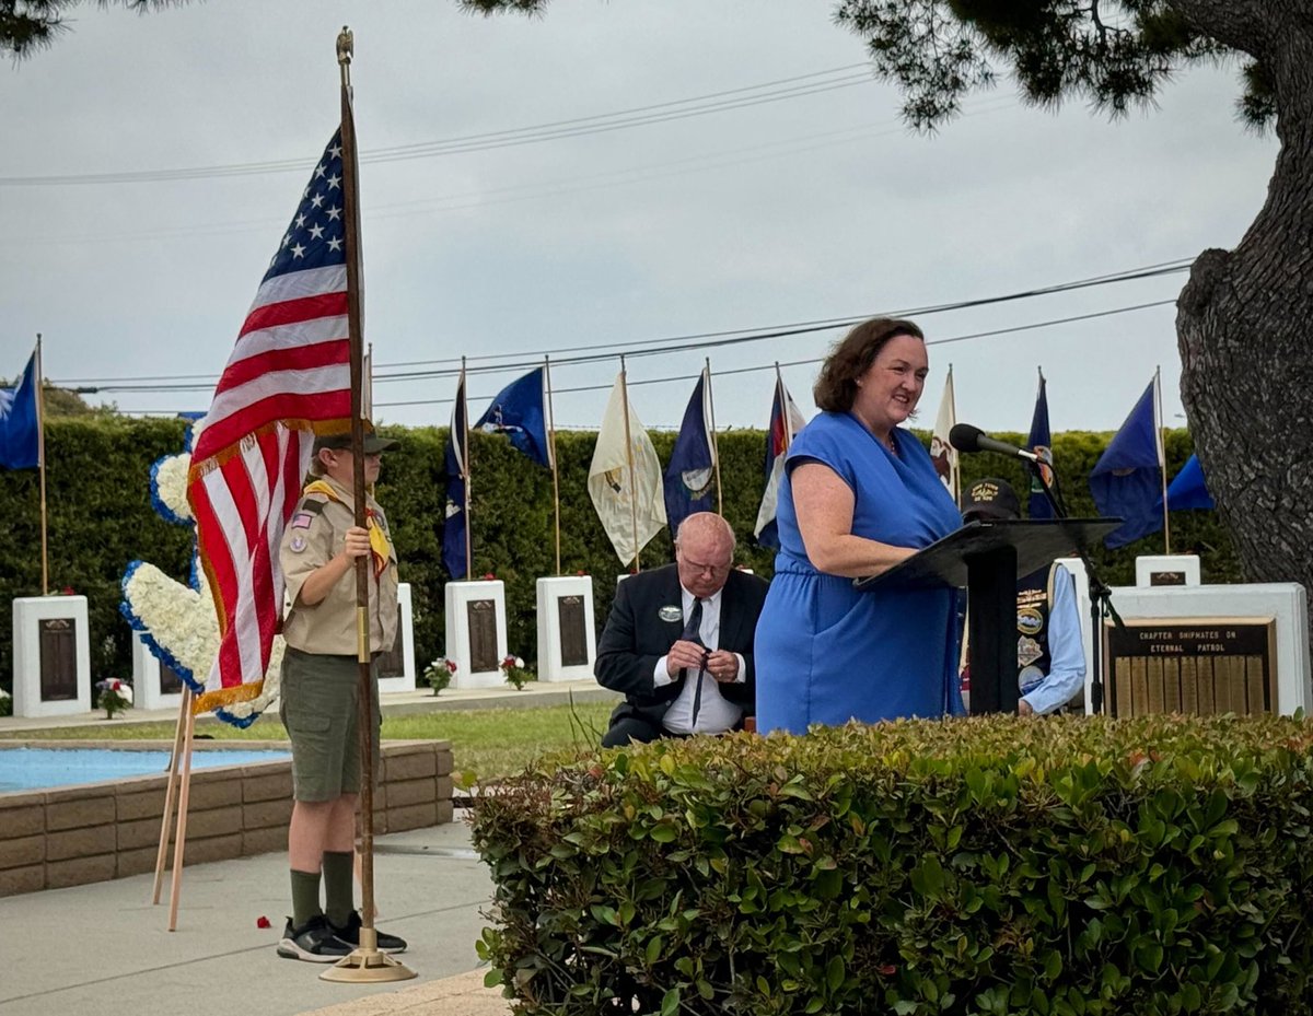
[[[378,672],[374,660],[374,773],[378,767]],[[282,654],[278,717],[291,740],[291,795],[335,801],[360,793],[360,664],[288,646]]]

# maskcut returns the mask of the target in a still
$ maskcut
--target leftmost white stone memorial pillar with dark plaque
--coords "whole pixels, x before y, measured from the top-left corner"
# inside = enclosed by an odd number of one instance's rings
[[[13,714],[89,713],[91,638],[85,596],[13,601]]]

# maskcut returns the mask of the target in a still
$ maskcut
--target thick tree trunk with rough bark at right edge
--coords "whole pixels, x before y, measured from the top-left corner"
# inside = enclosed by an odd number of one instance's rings
[[[1182,402],[1245,578],[1313,592],[1313,14],[1306,0],[1173,5],[1262,62],[1280,140],[1258,218],[1234,251],[1199,256],[1178,301]]]

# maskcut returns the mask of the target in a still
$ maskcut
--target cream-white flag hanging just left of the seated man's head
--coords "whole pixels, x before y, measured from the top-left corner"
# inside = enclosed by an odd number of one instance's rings
[[[597,448],[592,453],[592,465],[588,466],[588,496],[592,497],[601,528],[607,530],[622,564],[637,561],[638,551],[666,525],[660,480],[660,459],[656,458],[656,449],[634,412],[633,403],[626,398],[625,374],[621,371],[607,400]]]

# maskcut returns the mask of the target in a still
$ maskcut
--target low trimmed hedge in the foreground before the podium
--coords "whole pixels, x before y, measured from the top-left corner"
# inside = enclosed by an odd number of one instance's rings
[[[666,740],[481,797],[523,1016],[1306,1016],[1313,726]]]

